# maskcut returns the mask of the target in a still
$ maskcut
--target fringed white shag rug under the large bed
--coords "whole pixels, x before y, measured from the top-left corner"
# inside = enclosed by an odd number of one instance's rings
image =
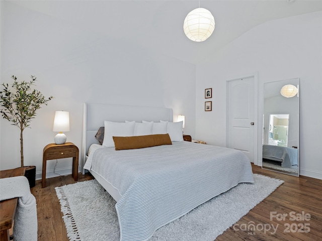
[[[254,178],[255,183],[240,183],[160,227],[149,240],[213,241],[284,182],[259,174]],[[116,202],[96,180],[55,189],[69,240],[120,240]]]

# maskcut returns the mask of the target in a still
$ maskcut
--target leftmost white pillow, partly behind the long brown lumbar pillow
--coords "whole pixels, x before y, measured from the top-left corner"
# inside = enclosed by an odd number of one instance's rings
[[[103,146],[115,147],[113,137],[133,137],[135,122],[120,123],[104,121]]]

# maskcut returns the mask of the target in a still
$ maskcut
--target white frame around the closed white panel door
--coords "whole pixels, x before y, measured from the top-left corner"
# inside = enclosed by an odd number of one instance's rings
[[[228,84],[231,81],[235,81],[238,79],[244,78],[254,78],[254,164],[258,165],[258,150],[262,147],[262,143],[258,142],[258,127],[259,127],[259,120],[258,120],[258,72],[240,75],[236,78],[231,78],[226,80],[226,147],[228,147]],[[261,149],[262,150],[262,149]]]

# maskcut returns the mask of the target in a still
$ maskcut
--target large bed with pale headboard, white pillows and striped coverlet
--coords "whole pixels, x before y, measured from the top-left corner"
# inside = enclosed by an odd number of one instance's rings
[[[147,240],[238,183],[254,182],[243,152],[183,141],[170,108],[86,103],[82,152],[84,170],[117,202],[121,240]]]

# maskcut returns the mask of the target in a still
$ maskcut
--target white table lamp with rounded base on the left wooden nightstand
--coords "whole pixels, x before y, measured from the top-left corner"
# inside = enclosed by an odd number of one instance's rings
[[[65,144],[66,135],[62,132],[69,132],[69,112],[68,111],[56,111],[54,119],[53,132],[59,132],[55,136],[55,143],[57,145]]]

